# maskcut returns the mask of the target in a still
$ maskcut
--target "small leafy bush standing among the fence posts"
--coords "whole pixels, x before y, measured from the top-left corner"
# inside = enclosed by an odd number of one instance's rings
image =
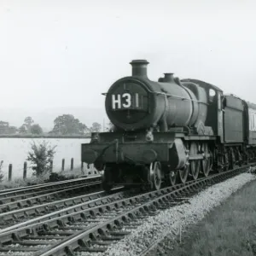
[[[51,147],[49,143],[43,142],[39,145],[36,143],[31,144],[32,151],[28,152],[28,156],[26,160],[32,162],[34,166],[32,166],[33,175],[44,175],[51,169],[51,161],[54,158],[55,148]]]

